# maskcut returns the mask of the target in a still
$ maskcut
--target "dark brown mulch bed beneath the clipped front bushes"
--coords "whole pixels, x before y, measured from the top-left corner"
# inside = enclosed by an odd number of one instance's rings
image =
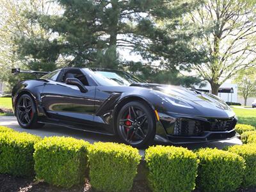
[[[24,179],[20,177],[13,177],[10,175],[0,174],[0,192],[26,192],[26,191],[35,191],[35,192],[93,192],[88,180],[79,186],[76,186],[71,189],[62,189],[56,186],[46,184],[45,182],[35,182],[33,179]],[[145,181],[134,181],[132,192],[144,192],[150,191]]]

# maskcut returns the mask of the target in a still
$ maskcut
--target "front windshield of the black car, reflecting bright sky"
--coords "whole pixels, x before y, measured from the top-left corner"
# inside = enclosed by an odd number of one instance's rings
[[[102,86],[129,86],[132,83],[147,83],[139,77],[120,70],[91,68],[92,75]]]

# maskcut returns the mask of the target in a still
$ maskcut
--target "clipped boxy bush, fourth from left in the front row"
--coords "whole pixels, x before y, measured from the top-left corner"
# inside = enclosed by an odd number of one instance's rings
[[[145,152],[148,182],[153,191],[192,191],[198,161],[196,154],[182,147],[150,147]]]

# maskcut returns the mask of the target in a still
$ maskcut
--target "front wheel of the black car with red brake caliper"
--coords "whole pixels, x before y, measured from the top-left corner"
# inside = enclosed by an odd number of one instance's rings
[[[152,109],[144,102],[128,102],[116,118],[116,129],[124,143],[132,147],[147,147],[156,135],[156,119]]]

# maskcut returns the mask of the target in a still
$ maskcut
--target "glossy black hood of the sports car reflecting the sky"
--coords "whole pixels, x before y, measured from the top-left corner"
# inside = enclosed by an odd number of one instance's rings
[[[184,100],[192,106],[200,105],[204,108],[218,108],[230,111],[229,106],[218,96],[211,93],[199,92],[197,90],[184,88],[182,86],[173,86],[169,84],[153,84],[153,83],[135,83],[131,86],[141,86],[164,94],[168,97]]]

